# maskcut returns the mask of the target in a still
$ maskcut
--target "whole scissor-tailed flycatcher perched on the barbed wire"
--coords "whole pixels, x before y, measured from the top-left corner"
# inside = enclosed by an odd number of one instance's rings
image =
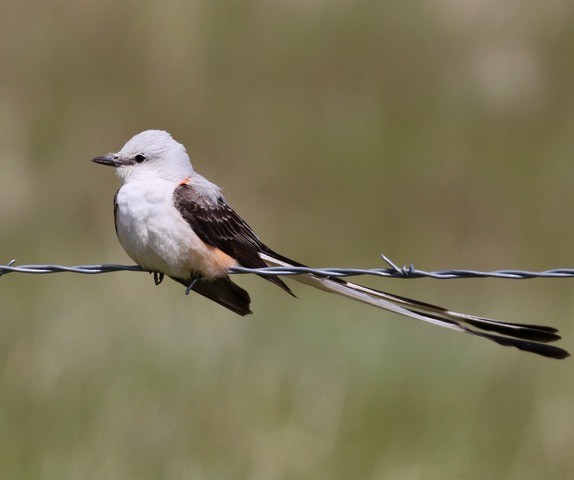
[[[249,294],[231,281],[230,267],[302,266],[271,250],[227,204],[219,187],[193,170],[185,147],[169,133],[142,132],[118,153],[93,159],[116,168],[123,186],[114,198],[116,232],[142,268],[165,274],[240,315],[251,313]],[[277,276],[264,276],[293,295]],[[499,322],[452,312],[335,277],[297,275],[295,280],[375,307],[500,345],[545,357],[565,358],[558,330]]]

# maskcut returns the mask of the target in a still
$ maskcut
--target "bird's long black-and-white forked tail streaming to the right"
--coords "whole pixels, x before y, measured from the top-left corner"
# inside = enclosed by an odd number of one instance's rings
[[[272,251],[262,252],[259,255],[269,266],[302,266]],[[398,313],[399,315],[486,338],[499,345],[516,347],[519,350],[550,358],[562,359],[570,356],[566,350],[547,345],[549,342],[560,339],[558,330],[552,327],[500,322],[489,318],[452,312],[446,308],[363,287],[337,277],[302,274],[294,275],[292,278],[315,288],[336,293],[358,302]]]

